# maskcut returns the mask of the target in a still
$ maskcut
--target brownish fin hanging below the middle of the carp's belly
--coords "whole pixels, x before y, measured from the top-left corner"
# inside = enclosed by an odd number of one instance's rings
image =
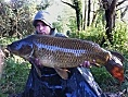
[[[61,68],[54,68],[54,70],[56,71],[56,73],[64,80],[68,78],[68,70],[66,69],[61,69]]]

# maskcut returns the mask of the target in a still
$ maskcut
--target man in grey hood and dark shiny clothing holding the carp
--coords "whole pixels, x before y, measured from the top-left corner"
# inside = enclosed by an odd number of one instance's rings
[[[36,34],[67,38],[67,36],[57,33],[52,27],[50,16],[46,11],[37,12],[33,22]],[[69,77],[68,80],[63,80],[54,69],[40,68],[36,60],[31,60],[30,63],[31,70],[25,90],[16,97],[104,97],[92,74],[86,68],[68,69]],[[40,69],[41,77],[38,75],[34,64]]]

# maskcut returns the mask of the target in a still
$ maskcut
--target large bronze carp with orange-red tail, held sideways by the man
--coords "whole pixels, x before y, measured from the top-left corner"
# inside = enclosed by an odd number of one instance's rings
[[[104,65],[120,82],[124,81],[121,61],[98,44],[76,38],[48,35],[30,35],[8,45],[8,50],[26,60],[38,59],[39,64],[55,69],[62,78],[67,78],[65,69],[75,68],[85,61]]]

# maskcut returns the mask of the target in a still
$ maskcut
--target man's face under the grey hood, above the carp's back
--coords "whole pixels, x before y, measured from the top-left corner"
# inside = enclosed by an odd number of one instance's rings
[[[50,26],[48,26],[43,22],[38,21],[37,24],[36,24],[36,31],[37,31],[37,34],[50,35],[51,28],[50,28]]]

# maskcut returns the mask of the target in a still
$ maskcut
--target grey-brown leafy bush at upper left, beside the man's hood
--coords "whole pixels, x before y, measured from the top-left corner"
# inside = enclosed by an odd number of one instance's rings
[[[22,37],[34,33],[31,17],[36,12],[36,5],[33,3],[21,2],[16,0],[12,4],[1,3],[0,10],[0,36]],[[29,5],[28,5],[29,4]]]

